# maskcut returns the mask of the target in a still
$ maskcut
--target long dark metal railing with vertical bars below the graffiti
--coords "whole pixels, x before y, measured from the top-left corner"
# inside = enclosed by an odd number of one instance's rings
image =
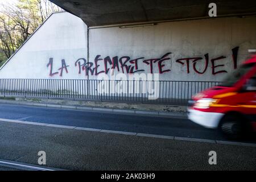
[[[0,79],[0,95],[87,101],[187,105],[214,81]]]

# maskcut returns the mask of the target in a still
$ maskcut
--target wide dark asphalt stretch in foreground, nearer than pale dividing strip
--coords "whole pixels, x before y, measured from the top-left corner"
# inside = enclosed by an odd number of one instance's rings
[[[0,159],[71,170],[255,170],[256,147],[0,122]],[[217,165],[209,165],[209,151]]]

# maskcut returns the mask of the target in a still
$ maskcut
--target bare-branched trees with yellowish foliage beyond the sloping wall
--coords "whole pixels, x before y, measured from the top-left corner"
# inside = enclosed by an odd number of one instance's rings
[[[62,10],[48,0],[0,4],[0,65],[55,11]]]

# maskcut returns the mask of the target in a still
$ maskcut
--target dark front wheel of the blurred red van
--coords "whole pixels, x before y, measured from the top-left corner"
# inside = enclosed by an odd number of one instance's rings
[[[225,115],[220,123],[221,133],[230,139],[241,139],[245,137],[246,127],[242,117],[239,115]]]

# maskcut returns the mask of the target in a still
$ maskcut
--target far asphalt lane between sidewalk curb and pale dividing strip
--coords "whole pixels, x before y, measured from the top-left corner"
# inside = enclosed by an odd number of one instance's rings
[[[173,137],[225,140],[216,130],[205,129],[185,118],[102,113],[7,104],[0,104],[0,118],[94,129],[169,135]]]

